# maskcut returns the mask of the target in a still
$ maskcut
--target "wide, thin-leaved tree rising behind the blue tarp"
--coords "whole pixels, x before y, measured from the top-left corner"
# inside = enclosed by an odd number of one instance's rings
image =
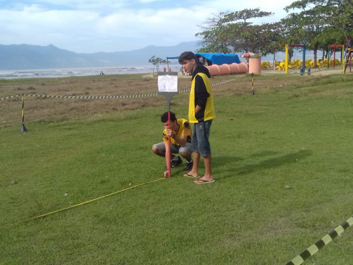
[[[259,8],[244,9],[236,12],[221,12],[207,18],[203,31],[195,35],[200,37],[203,48],[199,52],[260,52],[264,56],[284,48],[279,47],[281,25],[267,23],[253,25],[251,18],[272,15]]]

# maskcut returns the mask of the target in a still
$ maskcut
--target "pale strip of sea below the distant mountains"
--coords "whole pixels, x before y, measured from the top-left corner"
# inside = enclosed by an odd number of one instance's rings
[[[159,66],[159,71],[163,71],[164,65]],[[171,71],[179,71],[180,65],[170,65]],[[119,66],[119,67],[88,67],[88,68],[61,68],[61,69],[30,69],[30,70],[0,70],[0,79],[18,78],[58,78],[70,76],[94,76],[119,74],[143,74],[156,72],[156,67],[152,65],[140,66]]]

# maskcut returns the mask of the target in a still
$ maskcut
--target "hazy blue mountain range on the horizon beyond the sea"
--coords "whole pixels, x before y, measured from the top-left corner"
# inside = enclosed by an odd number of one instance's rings
[[[183,51],[195,51],[196,41],[182,42],[176,46],[147,46],[133,51],[75,53],[54,45],[1,45],[0,70],[115,67],[148,65],[152,56],[167,58]]]

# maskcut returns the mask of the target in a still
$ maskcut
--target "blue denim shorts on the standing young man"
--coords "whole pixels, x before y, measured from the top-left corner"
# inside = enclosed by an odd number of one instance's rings
[[[191,149],[193,152],[199,153],[201,156],[211,154],[210,142],[210,128],[213,120],[198,122],[193,124],[193,132],[191,138]]]

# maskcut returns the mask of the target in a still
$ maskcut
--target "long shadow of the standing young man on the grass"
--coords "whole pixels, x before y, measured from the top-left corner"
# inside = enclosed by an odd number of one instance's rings
[[[267,152],[268,155],[273,155],[276,152]],[[259,154],[254,154],[251,157],[256,158],[259,156],[265,156],[265,152],[261,153],[262,155]],[[214,167],[221,167],[222,165],[226,164],[226,167],[224,167],[224,170],[222,170],[222,175],[224,175],[225,172],[232,172],[231,175],[225,174],[225,176],[221,176],[220,178],[226,178],[226,177],[231,177],[236,175],[246,175],[255,171],[260,171],[266,168],[273,168],[273,167],[278,167],[282,166],[285,164],[290,164],[290,163],[295,163],[299,159],[303,159],[307,156],[310,156],[312,154],[311,150],[300,150],[298,152],[282,155],[279,157],[273,157],[266,159],[264,161],[260,161],[259,163],[256,164],[248,164],[244,165],[241,167],[237,167],[236,164],[233,164],[232,162],[234,161],[239,161],[239,160],[244,160],[244,158],[239,158],[239,157],[215,157],[213,161],[213,165],[217,165]]]

